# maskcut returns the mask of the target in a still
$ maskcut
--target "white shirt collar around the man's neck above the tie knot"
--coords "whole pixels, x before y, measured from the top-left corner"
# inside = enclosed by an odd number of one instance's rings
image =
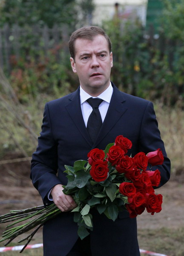
[[[80,86],[80,104],[83,104],[83,102],[85,102],[87,99],[89,98],[99,98],[99,99],[103,99],[103,101],[106,101],[108,103],[110,103],[111,97],[112,97],[112,93],[113,93],[113,87],[112,84],[109,84],[109,87],[106,88],[106,90],[104,90],[103,93],[101,93],[100,95],[98,95],[98,97],[92,97],[91,95],[89,95],[88,93],[86,93],[82,87]]]

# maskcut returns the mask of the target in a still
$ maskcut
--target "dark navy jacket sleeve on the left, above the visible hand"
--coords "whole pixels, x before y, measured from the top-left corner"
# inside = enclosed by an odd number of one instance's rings
[[[57,177],[58,172],[58,143],[52,134],[52,125],[49,118],[49,107],[46,103],[42,131],[38,138],[36,151],[32,155],[31,179],[40,193],[43,203],[50,203],[48,192],[57,184],[61,184]]]

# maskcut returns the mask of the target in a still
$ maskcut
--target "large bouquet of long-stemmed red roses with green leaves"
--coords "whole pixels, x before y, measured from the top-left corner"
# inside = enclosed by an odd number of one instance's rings
[[[72,195],[78,204],[72,212],[74,221],[78,223],[78,235],[81,239],[89,234],[87,229],[92,230],[92,208],[113,221],[123,210],[129,212],[130,218],[140,215],[144,209],[152,215],[161,211],[162,195],[156,195],[153,189],[160,183],[160,171],[150,169],[151,166],[163,163],[163,154],[158,148],[147,155],[139,152],[134,157],[129,157],[127,152],[131,148],[132,142],[119,135],[115,143],[108,144],[104,151],[92,149],[87,155],[88,161],[78,160],[74,166],[65,166],[68,183],[63,186],[63,192]],[[27,245],[37,230],[59,213],[58,207],[52,204],[46,208],[32,207],[2,215],[0,223],[15,221],[8,227],[38,216],[26,224],[6,230],[0,242],[10,239],[7,245],[15,237],[38,226],[31,235],[21,240],[29,238]]]

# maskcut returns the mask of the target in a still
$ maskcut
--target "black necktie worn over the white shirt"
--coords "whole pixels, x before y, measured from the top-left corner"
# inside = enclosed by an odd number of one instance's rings
[[[93,109],[87,122],[87,131],[92,139],[92,142],[94,143],[102,125],[101,114],[98,107],[101,102],[103,102],[103,99],[89,98],[86,101]]]

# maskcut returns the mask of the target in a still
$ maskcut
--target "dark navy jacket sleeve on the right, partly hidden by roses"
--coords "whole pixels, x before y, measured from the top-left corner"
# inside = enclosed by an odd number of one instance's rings
[[[164,142],[161,140],[158,122],[152,102],[147,104],[141,122],[139,150],[145,153],[160,148],[164,155],[163,165],[153,166],[152,170],[158,169],[161,172],[161,182],[158,187],[163,186],[170,179],[170,160],[165,151]],[[158,188],[157,187],[157,188]]]

